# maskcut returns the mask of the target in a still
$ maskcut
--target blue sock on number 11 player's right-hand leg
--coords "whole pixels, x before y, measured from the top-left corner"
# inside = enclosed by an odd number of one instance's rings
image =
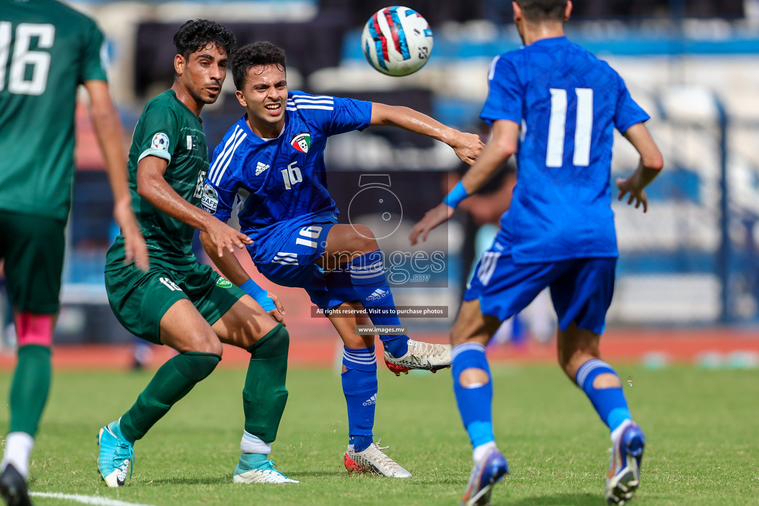
[[[587,398],[591,400],[593,407],[596,408],[598,416],[613,431],[622,425],[622,422],[625,420],[632,420],[632,416],[630,415],[630,410],[628,410],[621,385],[619,388],[593,388],[594,379],[606,372],[617,376],[614,369],[603,360],[597,358],[588,360],[577,370],[575,383],[585,391]]]

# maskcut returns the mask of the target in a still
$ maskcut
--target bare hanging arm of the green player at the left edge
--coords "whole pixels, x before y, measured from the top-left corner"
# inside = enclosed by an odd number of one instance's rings
[[[132,211],[129,196],[127,163],[124,156],[124,132],[118,112],[111,101],[108,83],[102,80],[88,80],[84,83],[90,95],[90,112],[95,125],[103,158],[106,159],[106,171],[113,192],[113,218],[124,236],[124,263],[134,259],[139,269],[148,268],[148,254],[145,239],[137,225],[137,218]]]

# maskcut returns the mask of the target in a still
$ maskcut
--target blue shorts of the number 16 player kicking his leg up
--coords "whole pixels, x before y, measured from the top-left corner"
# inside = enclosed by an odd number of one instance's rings
[[[317,265],[324,254],[326,238],[333,223],[297,226],[283,226],[276,231],[276,237],[286,236],[282,251],[271,259],[256,262],[258,272],[272,283],[286,287],[304,288],[311,302],[323,310],[332,309],[344,302],[357,300],[347,269],[342,272],[325,274]]]

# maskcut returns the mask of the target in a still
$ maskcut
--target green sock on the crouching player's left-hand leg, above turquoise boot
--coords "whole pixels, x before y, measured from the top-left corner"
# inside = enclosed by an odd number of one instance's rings
[[[217,354],[185,351],[168,360],[142,391],[137,402],[121,416],[121,432],[131,443],[146,434],[161,416],[205,379],[222,360]]]

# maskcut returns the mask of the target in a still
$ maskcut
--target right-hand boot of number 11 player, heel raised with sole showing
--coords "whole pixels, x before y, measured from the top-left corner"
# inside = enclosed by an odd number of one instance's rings
[[[608,504],[622,506],[641,484],[646,436],[636,423],[628,420],[612,433],[612,444],[612,459],[603,495]]]

